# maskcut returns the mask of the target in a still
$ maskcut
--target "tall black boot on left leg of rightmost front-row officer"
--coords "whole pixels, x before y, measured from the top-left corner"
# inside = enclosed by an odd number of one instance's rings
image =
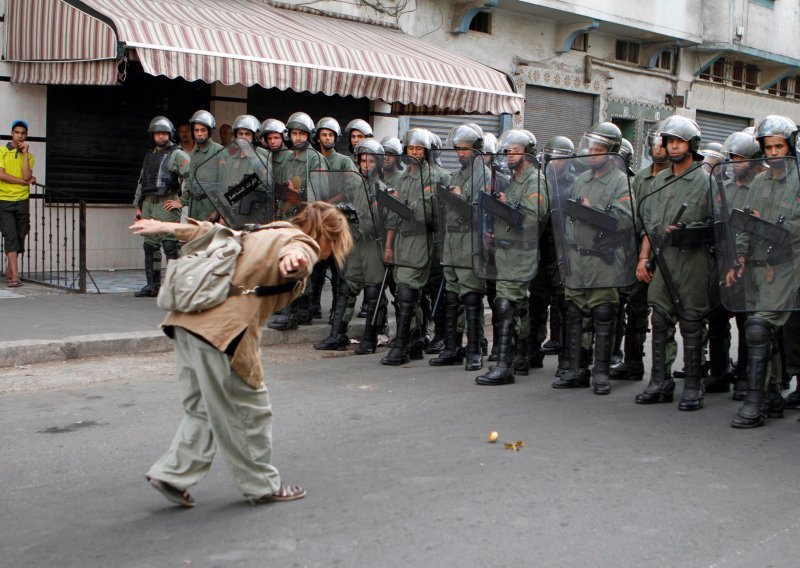
[[[734,428],[757,428],[767,416],[765,381],[772,355],[772,325],[762,318],[749,318],[744,324],[747,340],[747,392],[744,404],[731,421]]]

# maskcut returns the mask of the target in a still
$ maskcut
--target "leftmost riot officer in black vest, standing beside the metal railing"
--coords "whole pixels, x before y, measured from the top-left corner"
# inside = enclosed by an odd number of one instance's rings
[[[133,205],[136,219],[157,219],[180,222],[180,207],[168,208],[167,202],[177,201],[181,190],[181,178],[189,174],[189,156],[173,141],[175,127],[165,116],[156,116],[147,127],[155,147],[144,157],[142,171]],[[155,254],[164,248],[167,260],[178,258],[178,241],[174,235],[144,237],[144,273],[147,284],[134,295],[155,297],[161,287],[161,269],[156,267]]]

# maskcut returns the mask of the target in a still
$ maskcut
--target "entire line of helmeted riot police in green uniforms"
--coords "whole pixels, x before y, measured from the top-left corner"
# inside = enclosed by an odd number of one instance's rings
[[[528,130],[497,139],[474,123],[453,128],[444,144],[421,128],[379,143],[361,119],[342,133],[330,117],[315,124],[297,112],[284,124],[242,115],[225,147],[211,140],[208,111],[190,125],[188,155],[167,118],[151,121],[137,217],[178,221],[188,206],[191,218],[241,228],[291,218],[310,201],[347,217],[354,247],[345,264],[319,263],[306,292],[269,322],[286,330],[321,318],[330,273],[331,331],[316,349],[346,349],[363,292],[355,353],[375,353],[390,291],[397,331],[384,365],[428,353],[431,366],[477,372],[488,355],[493,364],[475,382],[504,385],[558,353],[554,388],[605,395],[611,379],[643,379],[649,331],[650,380],[636,403],[671,403],[682,373],[684,411],[733,385],[742,402],[735,428],[800,408],[800,390],[782,396],[800,373],[800,335],[790,332],[800,328],[800,175],[787,117],[769,116],[724,144],[701,144],[694,121],[669,117],[648,132],[652,163],[636,173],[633,147],[610,122],[577,149],[556,136],[541,150]],[[336,151],[342,135],[350,156]],[[444,158],[458,167],[447,171]],[[145,238],[147,285],[137,295],[158,294],[162,248],[177,258],[174,235]],[[676,326],[684,368],[673,372]]]

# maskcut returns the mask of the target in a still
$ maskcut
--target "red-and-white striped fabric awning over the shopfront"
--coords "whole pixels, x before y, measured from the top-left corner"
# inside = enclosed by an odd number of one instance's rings
[[[389,27],[265,0],[8,0],[12,80],[115,84],[144,71],[226,85],[517,113],[507,76]],[[32,34],[31,30],[41,30]]]

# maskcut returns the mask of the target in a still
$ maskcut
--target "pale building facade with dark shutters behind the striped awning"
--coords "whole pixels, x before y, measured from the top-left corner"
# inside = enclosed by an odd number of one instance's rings
[[[31,1],[52,9],[90,5],[99,12],[104,5],[115,4],[115,0]],[[146,9],[148,2],[155,6],[152,0],[135,4]],[[6,15],[0,23],[4,46],[0,135],[7,140],[11,121],[26,119],[38,180],[89,199],[90,268],[130,268],[141,263],[140,242],[125,227],[131,220],[129,203],[138,166],[149,145],[146,125],[154,115],[166,114],[177,125],[194,110],[207,108],[218,124],[224,124],[244,113],[260,120],[285,120],[292,112],[304,110],[315,120],[332,115],[343,124],[355,117],[368,118],[378,137],[402,135],[413,126],[430,127],[444,135],[450,126],[465,120],[458,114],[461,103],[453,104],[452,95],[442,95],[438,105],[430,104],[430,99],[417,104],[413,97],[387,101],[360,92],[358,96],[326,95],[269,84],[236,84],[236,77],[215,79],[213,74],[204,75],[207,80],[186,80],[185,75],[170,78],[169,71],[155,76],[151,73],[161,71],[148,72],[152,62],[146,55],[153,46],[141,41],[135,49],[130,47],[134,42],[120,42],[122,57],[111,60],[113,67],[104,68],[106,74],[115,74],[113,86],[55,84],[52,77],[58,74],[42,79],[41,73],[31,71],[40,69],[39,64],[9,62],[9,52],[19,41],[9,37],[14,24],[9,16],[14,17],[13,8],[19,3],[0,0]],[[191,10],[192,3],[184,3]],[[264,3],[227,3],[241,10],[255,10],[260,4]],[[413,65],[427,52],[443,50],[501,72],[513,90],[524,96],[519,112],[484,109],[469,120],[495,134],[512,126],[528,128],[540,146],[557,134],[577,143],[592,123],[612,120],[634,144],[640,164],[647,129],[671,114],[695,119],[704,140],[719,142],[729,132],[768,114],[800,120],[800,11],[793,2],[385,0],[368,6],[297,0],[267,4],[287,10],[290,16],[332,15],[325,20],[330,26],[309,34],[307,45],[312,48],[326,37],[345,46],[363,42],[363,53],[378,58],[386,48],[380,33],[369,28],[360,36],[341,27],[345,21],[369,21],[379,24],[376,30],[397,28],[418,40],[403,46],[408,59],[401,65],[408,66],[409,61]],[[95,15],[102,20],[102,13]],[[225,20],[225,15],[220,18]],[[169,58],[162,55],[161,59]],[[394,72],[399,76],[404,70]],[[474,73],[474,68],[465,67],[462,75]]]

